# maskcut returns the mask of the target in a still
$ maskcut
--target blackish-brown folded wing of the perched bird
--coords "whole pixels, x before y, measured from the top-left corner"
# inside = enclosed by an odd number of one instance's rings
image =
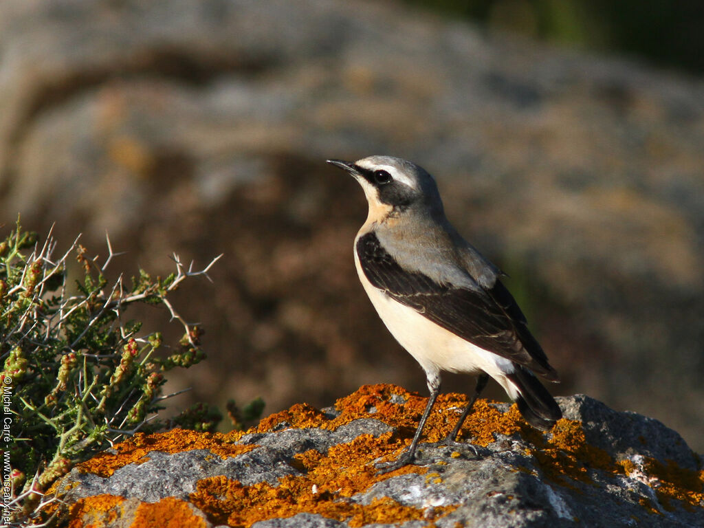
[[[515,299],[498,279],[489,290],[479,284],[475,289],[438,284],[427,275],[403,270],[374,233],[360,237],[356,251],[367,279],[391,298],[484,350],[546,379],[558,379]]]

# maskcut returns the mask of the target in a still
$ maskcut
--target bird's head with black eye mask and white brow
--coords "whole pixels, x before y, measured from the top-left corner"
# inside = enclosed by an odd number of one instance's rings
[[[327,163],[346,170],[359,182],[372,217],[400,215],[407,210],[442,213],[434,178],[415,163],[392,156],[369,156],[353,163],[328,160]]]

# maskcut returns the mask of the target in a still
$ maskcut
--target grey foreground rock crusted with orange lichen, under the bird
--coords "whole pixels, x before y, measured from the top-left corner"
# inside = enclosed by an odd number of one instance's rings
[[[560,398],[550,432],[515,406],[477,402],[461,433],[479,451],[421,446],[417,465],[377,474],[408,446],[426,399],[363,386],[333,408],[296,405],[256,429],[142,435],[54,486],[61,523],[99,527],[698,527],[704,471],[656,420],[587,396]],[[446,394],[425,439],[466,398]]]

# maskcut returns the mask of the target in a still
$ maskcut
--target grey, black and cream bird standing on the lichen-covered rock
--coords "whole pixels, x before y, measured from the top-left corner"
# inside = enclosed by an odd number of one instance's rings
[[[377,463],[377,469],[413,463],[443,371],[478,373],[474,393],[444,444],[456,443],[489,377],[517,403],[526,422],[550,429],[562,412],[537,376],[559,382],[558,373],[501,282],[505,274],[447,220],[434,177],[393,156],[327,163],[352,175],[365,193],[367,220],[354,241],[358,277],[386,328],[420,363],[430,391],[409,448],[396,460]]]

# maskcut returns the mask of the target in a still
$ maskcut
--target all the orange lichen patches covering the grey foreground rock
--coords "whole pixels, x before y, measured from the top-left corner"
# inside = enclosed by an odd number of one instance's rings
[[[379,498],[369,505],[351,500],[351,497],[367,491],[377,482],[399,474],[425,474],[426,482],[441,482],[441,475],[428,474],[426,467],[407,465],[381,475],[375,468],[375,461],[393,460],[408,448],[426,403],[427,398],[398,386],[370,385],[339,399],[335,404],[337,415],[332,418],[306,404],[270,415],[248,433],[274,432],[289,427],[335,430],[359,418],[376,418],[394,427],[394,432],[379,436],[361,434],[346,444],[330,447],[325,453],[315,450],[298,453],[289,461],[291,467],[297,470],[296,474],[280,478],[275,485],[258,482],[245,486],[224,476],[202,479],[196,484],[196,491],[189,495],[189,500],[205,513],[210,522],[237,527],[249,527],[260,520],[291,517],[303,512],[344,520],[353,527],[372,522],[401,523],[408,520],[432,523],[434,519],[451,513],[457,506],[424,510],[401,505],[391,498]],[[455,426],[466,403],[466,396],[460,394],[441,395],[427,421],[422,441],[444,439]],[[149,436],[138,434],[115,446],[117,454],[103,453],[79,467],[108,476],[123,465],[142,463],[151,451],[175,453],[208,449],[213,455],[227,458],[256,448],[255,445],[234,444],[242,435],[180,430]],[[635,459],[616,461],[606,451],[586,441],[582,422],[562,419],[550,432],[540,432],[522,420],[515,405],[503,412],[494,403],[477,401],[460,430],[460,440],[489,446],[496,441],[497,435],[517,435],[527,441],[529,447],[526,454],[534,458],[541,474],[563,486],[576,488],[576,482],[591,482],[591,471],[596,469],[611,474],[632,475],[631,478],[646,482],[655,489],[655,496],[662,508],[672,508],[675,500],[686,508],[704,504],[704,472],[683,470],[674,463],[664,465],[643,457],[637,462],[634,462]],[[461,454],[457,452],[450,456],[457,458]],[[445,465],[446,462],[440,464]],[[530,472],[535,473],[536,470]],[[71,527],[83,527],[84,519],[100,523],[125,514],[120,508],[127,506],[121,501],[122,498],[111,496],[77,501],[71,506],[70,519],[78,524],[71,524]],[[658,505],[648,498],[642,497],[641,505],[648,513],[659,513]],[[147,526],[156,519],[160,520],[160,525],[168,526],[163,523],[166,510],[175,515],[175,519],[178,517],[178,522],[188,517],[189,520],[183,521],[182,525],[198,526],[202,524],[196,523],[203,523],[187,503],[164,499],[152,505],[139,505],[139,526]],[[94,517],[86,517],[88,514]],[[138,527],[137,524],[134,526]]]

